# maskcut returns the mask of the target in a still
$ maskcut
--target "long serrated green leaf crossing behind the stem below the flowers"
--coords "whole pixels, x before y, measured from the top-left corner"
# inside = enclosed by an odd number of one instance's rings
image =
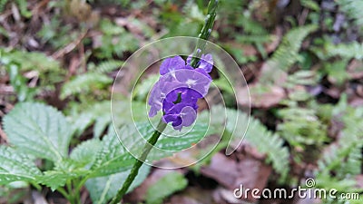
[[[128,124],[121,128],[119,135],[121,137],[120,140],[122,140],[123,143],[119,141],[115,132],[109,133],[103,137],[102,149],[97,153],[96,159],[91,167],[91,177],[110,175],[132,168],[135,159],[129,151],[131,151],[133,155],[141,153],[145,139],[148,140],[154,131],[149,122],[140,122],[136,125],[138,130],[136,130],[134,124]],[[157,148],[152,149],[149,153],[148,160],[160,160],[171,156],[177,151],[190,148],[192,144],[197,143],[203,138],[205,131],[207,130],[207,125],[196,124],[187,135],[183,135],[182,137],[172,138],[162,135],[155,147],[164,151],[159,151]],[[171,131],[174,130],[164,131],[163,134],[171,135]],[[129,151],[126,151],[123,145],[126,145],[127,150]]]

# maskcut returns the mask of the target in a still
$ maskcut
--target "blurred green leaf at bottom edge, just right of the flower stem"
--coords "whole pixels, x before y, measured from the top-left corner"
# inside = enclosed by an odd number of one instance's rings
[[[146,203],[159,204],[162,199],[168,198],[174,192],[185,189],[188,185],[188,180],[176,171],[166,174],[162,179],[156,181],[152,186],[147,189]]]

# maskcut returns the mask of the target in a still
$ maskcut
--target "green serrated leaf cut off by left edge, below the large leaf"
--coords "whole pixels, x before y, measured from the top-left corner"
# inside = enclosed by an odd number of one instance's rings
[[[34,181],[41,175],[33,160],[13,148],[0,146],[0,184],[17,180]]]

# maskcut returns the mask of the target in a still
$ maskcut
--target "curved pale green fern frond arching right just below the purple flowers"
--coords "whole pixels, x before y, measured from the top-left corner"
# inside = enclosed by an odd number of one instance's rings
[[[284,140],[278,134],[268,131],[257,119],[249,119],[246,113],[234,109],[213,106],[211,108],[211,115],[219,116],[211,117],[211,127],[217,130],[223,130],[223,127],[225,127],[224,133],[226,136],[232,134],[231,144],[238,144],[241,140],[249,142],[260,153],[266,153],[268,161],[272,163],[272,167],[283,176],[286,176],[289,171],[289,150],[283,146]],[[204,122],[209,120],[207,112],[201,112],[200,117]],[[243,138],[244,131],[246,131],[246,134]]]

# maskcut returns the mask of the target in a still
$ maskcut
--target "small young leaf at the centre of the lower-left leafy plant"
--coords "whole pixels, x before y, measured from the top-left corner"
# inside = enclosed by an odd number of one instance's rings
[[[102,142],[98,139],[83,141],[71,153],[71,160],[74,160],[75,165],[83,167],[93,163],[96,154],[102,148]]]

